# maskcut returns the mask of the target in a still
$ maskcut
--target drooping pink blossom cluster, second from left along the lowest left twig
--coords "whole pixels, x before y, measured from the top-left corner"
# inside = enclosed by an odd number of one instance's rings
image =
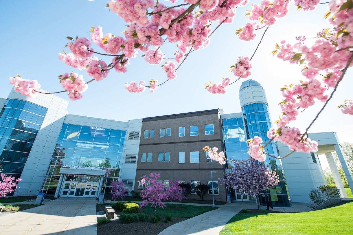
[[[83,80],[82,75],[77,73],[65,73],[60,76],[62,88],[68,91],[68,97],[71,100],[78,100],[82,98],[82,93],[86,91],[88,85]]]

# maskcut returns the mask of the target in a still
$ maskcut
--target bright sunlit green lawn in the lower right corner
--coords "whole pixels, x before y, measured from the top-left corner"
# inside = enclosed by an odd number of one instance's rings
[[[353,234],[353,202],[300,213],[242,213],[228,221],[220,235]]]

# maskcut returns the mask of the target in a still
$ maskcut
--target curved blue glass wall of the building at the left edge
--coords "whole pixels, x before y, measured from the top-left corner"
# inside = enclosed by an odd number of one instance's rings
[[[0,112],[0,165],[2,172],[19,178],[47,109],[8,99]]]

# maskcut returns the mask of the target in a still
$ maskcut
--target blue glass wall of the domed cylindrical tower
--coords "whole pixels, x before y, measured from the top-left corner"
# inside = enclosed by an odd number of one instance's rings
[[[259,136],[262,138],[263,143],[266,144],[269,140],[266,133],[272,127],[268,106],[264,103],[255,103],[245,105],[242,109],[245,130],[247,139]],[[265,147],[265,151],[270,155],[279,157],[277,144],[271,142]],[[285,175],[283,174],[282,163],[280,159],[267,157],[265,166],[270,166],[270,169],[276,170],[280,178],[280,183],[270,187],[267,193],[270,195],[273,206],[276,207],[290,207],[291,202],[288,199],[287,183]],[[261,205],[266,205],[264,197],[261,197]]]

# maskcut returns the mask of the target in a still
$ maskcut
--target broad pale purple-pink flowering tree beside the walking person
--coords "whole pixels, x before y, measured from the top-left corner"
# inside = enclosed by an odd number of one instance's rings
[[[259,209],[260,191],[267,190],[268,187],[280,182],[276,171],[271,171],[269,167],[265,168],[263,162],[257,162],[254,159],[235,164],[234,168],[226,172],[225,176],[226,178],[220,178],[220,181],[226,185],[226,188],[234,188],[256,197]]]

